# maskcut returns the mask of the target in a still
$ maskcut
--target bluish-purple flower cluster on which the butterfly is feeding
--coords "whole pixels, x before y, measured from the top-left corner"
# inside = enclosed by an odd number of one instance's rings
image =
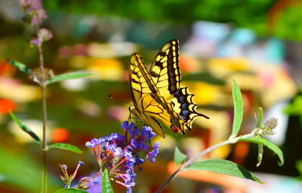
[[[153,163],[160,144],[156,142],[154,146],[150,145],[150,139],[155,137],[151,127],[143,126],[139,131],[134,123],[129,124],[128,121],[124,121],[121,126],[125,135],[110,134],[108,137],[86,142],[86,146],[93,149],[100,165],[101,171],[97,175],[107,168],[109,178],[115,178],[115,182],[125,186],[130,193],[131,187],[135,185],[134,167],[137,166],[140,171],[140,165],[144,162],[138,153],[146,153],[146,159]]]

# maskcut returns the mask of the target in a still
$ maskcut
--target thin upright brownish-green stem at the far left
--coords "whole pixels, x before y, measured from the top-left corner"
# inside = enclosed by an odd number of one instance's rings
[[[37,30],[37,38],[40,39],[39,35],[39,26],[36,27]],[[43,58],[43,50],[42,43],[37,46],[39,51],[39,59],[40,59],[40,71],[41,71],[41,88],[42,88],[42,106],[43,106],[43,170],[42,170],[42,192],[47,192],[47,180],[46,180],[46,121],[47,121],[47,113],[46,113],[46,84],[45,84],[45,76],[44,76],[44,58]]]

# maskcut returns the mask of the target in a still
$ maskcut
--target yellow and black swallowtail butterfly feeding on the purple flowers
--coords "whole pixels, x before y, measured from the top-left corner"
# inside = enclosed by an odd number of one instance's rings
[[[150,70],[139,53],[130,56],[129,82],[133,106],[131,113],[149,124],[165,138],[162,124],[175,133],[185,134],[192,129],[197,117],[205,117],[196,111],[194,94],[181,86],[179,67],[179,42],[167,42],[156,55]]]

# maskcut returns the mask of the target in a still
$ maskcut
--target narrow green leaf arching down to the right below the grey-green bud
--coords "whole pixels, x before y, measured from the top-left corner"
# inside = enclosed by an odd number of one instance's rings
[[[265,145],[268,148],[270,148],[271,150],[273,150],[279,156],[279,159],[280,159],[280,163],[278,162],[279,166],[282,166],[284,164],[283,152],[274,143],[272,143],[272,142],[270,142],[270,141],[268,141],[266,139],[263,139],[263,138],[248,138],[248,139],[246,139],[246,138],[240,138],[239,137],[238,141],[246,141],[246,142],[251,142],[251,143],[257,143],[257,144]]]

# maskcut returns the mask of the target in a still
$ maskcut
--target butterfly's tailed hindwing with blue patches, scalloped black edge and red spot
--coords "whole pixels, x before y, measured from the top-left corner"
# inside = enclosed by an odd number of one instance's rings
[[[171,120],[170,126],[172,131],[180,131],[185,134],[185,130],[192,129],[192,123],[197,117],[205,117],[204,114],[197,112],[197,104],[193,101],[194,94],[188,91],[186,86],[180,86],[179,90],[174,94],[174,98],[170,101],[172,104],[172,111],[176,113]]]

